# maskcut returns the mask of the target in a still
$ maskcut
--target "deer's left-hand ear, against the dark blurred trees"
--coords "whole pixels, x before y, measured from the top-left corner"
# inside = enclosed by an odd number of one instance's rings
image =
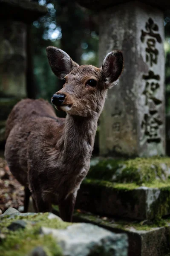
[[[75,67],[79,66],[66,52],[57,47],[49,46],[46,48],[46,52],[52,71],[59,79],[63,79]]]

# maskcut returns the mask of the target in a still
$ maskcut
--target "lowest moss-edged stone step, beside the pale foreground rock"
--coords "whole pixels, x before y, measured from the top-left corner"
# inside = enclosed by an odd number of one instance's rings
[[[58,207],[54,213],[59,214]],[[75,210],[74,222],[88,222],[103,227],[114,233],[126,233],[128,236],[128,256],[169,256],[170,219],[151,221],[125,221],[100,217],[89,212]],[[162,227],[159,227],[161,226]]]

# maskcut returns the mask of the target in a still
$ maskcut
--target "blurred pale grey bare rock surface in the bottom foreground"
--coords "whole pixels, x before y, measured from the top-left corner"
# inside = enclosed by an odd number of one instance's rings
[[[42,227],[41,233],[52,234],[64,256],[127,256],[127,235],[114,234],[92,224],[72,224],[65,230]]]

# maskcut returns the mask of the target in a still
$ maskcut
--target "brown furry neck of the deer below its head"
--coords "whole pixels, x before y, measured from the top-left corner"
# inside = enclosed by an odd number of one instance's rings
[[[98,113],[90,117],[67,114],[60,144],[63,161],[86,165],[92,154],[97,129]]]

